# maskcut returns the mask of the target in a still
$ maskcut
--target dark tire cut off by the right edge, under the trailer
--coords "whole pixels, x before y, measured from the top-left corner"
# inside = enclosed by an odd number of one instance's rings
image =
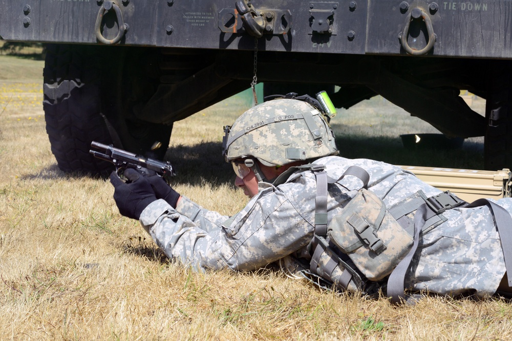
[[[512,169],[512,62],[497,60],[489,69],[484,167]]]

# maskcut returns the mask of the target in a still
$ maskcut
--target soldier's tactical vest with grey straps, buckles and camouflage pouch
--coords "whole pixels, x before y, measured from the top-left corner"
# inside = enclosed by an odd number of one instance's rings
[[[310,268],[301,275],[318,286],[367,294],[387,287],[392,303],[405,301],[404,279],[421,235],[446,221],[444,211],[459,206],[489,207],[500,235],[507,275],[512,274],[512,247],[503,247],[512,245],[512,218],[492,201],[479,199],[469,204],[449,191],[428,198],[418,191],[388,209],[368,190],[370,176],[361,167],[350,166],[338,179],[330,178],[323,165],[293,169],[309,169],[316,178],[314,237],[308,246]],[[347,175],[358,177],[362,186],[343,212],[328,221],[328,184]],[[512,287],[512,276],[508,276],[508,285]]]

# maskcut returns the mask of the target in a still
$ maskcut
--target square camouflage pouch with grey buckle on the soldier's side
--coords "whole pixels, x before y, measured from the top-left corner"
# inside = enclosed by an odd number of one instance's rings
[[[364,188],[342,214],[332,218],[327,236],[371,281],[391,274],[413,245],[412,236],[391,216],[385,203]]]

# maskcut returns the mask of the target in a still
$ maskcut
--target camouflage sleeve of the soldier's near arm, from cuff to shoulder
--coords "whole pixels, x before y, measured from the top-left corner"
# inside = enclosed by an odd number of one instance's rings
[[[270,188],[218,229],[200,228],[164,200],[151,203],[140,222],[167,257],[196,270],[254,270],[310,242],[313,225],[305,213],[284,192]]]

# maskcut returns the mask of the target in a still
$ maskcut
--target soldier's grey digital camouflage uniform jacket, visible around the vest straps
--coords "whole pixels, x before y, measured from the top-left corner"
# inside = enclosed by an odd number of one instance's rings
[[[420,190],[427,197],[441,192],[412,173],[381,162],[328,156],[315,163],[325,165],[331,178],[339,178],[352,165],[364,168],[370,175],[369,190],[387,207]],[[140,222],[169,258],[197,270],[254,270],[285,256],[309,264],[307,245],[314,231],[314,174],[297,171],[277,187],[260,184],[260,193],[229,220],[183,198],[176,210],[163,200],[153,202],[142,212]],[[343,213],[359,188],[361,181],[354,176],[329,185],[329,220]],[[512,211],[512,198],[497,203]],[[458,207],[443,215],[445,222],[423,231],[406,276],[406,288],[451,295],[472,292],[478,297],[494,294],[505,274],[505,265],[489,209]],[[228,223],[223,224],[226,220]]]

